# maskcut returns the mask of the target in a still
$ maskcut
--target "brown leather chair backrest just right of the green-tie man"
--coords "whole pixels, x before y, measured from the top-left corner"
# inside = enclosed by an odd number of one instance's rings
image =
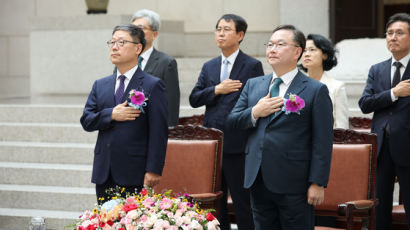
[[[377,136],[335,129],[329,183],[317,214],[336,215],[338,205],[376,199]]]

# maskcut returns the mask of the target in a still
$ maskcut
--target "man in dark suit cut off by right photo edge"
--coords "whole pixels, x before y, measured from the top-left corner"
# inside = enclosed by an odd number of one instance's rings
[[[393,57],[373,65],[359,100],[363,113],[373,112],[371,131],[377,134],[376,229],[392,229],[394,178],[399,179],[410,223],[410,16],[390,17],[387,48]]]

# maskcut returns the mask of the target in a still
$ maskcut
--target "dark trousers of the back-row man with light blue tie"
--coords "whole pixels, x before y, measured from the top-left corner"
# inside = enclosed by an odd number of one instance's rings
[[[254,229],[251,212],[249,190],[243,187],[245,175],[245,154],[223,154],[222,159],[222,191],[219,222],[221,230],[230,229],[227,198],[231,195],[239,230]]]

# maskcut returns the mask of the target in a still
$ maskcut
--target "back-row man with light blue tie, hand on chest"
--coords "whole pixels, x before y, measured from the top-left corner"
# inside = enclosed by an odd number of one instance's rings
[[[221,229],[230,229],[227,215],[227,194],[231,194],[239,229],[253,229],[249,191],[243,188],[245,142],[247,132],[227,129],[225,120],[249,78],[263,75],[260,61],[239,49],[248,25],[234,14],[223,15],[216,23],[215,40],[222,54],[204,64],[189,96],[192,107],[205,105],[204,126],[224,132],[222,191],[220,204]]]

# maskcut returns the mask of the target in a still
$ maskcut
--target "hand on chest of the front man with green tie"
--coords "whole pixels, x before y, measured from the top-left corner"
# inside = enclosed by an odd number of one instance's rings
[[[270,97],[268,94],[266,97],[259,99],[258,103],[252,108],[252,115],[255,119],[267,117],[272,113],[280,111],[282,105],[282,97]]]

